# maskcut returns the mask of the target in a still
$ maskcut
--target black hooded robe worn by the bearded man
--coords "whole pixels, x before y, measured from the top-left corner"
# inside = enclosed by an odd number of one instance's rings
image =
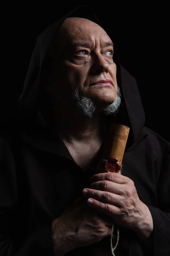
[[[53,126],[38,114],[40,74],[45,56],[66,17],[85,17],[99,25],[93,12],[78,8],[37,38],[17,109],[1,126],[0,256],[52,256],[51,224],[82,196],[92,172],[74,161]],[[106,30],[106,29],[105,29]],[[111,37],[111,36],[110,36]],[[139,198],[153,218],[150,248],[132,230],[119,227],[116,256],[170,255],[170,143],[144,126],[136,80],[119,64],[117,81],[122,106],[111,122],[130,127],[122,175],[135,183]],[[102,151],[102,148],[101,148]],[[110,237],[69,256],[111,256]]]

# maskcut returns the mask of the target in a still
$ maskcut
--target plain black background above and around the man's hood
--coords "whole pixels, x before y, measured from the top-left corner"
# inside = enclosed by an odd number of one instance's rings
[[[138,83],[146,115],[145,125],[166,140],[169,135],[169,15],[164,3],[96,2],[91,7],[119,52],[120,62]],[[0,85],[0,117],[18,102],[37,35],[77,4],[44,2],[34,6],[6,2],[1,8],[3,72]]]

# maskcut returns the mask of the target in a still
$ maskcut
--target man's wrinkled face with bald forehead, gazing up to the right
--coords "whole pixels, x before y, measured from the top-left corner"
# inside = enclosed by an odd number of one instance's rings
[[[117,93],[116,64],[106,32],[90,20],[68,18],[58,38],[48,91],[69,101],[78,88],[79,95],[91,99],[96,107],[113,103]],[[106,79],[110,81],[103,83]]]

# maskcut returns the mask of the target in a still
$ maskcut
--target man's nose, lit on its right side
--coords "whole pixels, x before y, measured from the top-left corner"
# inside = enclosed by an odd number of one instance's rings
[[[91,67],[92,73],[102,73],[102,72],[109,72],[109,64],[102,56],[101,53],[96,54],[93,56],[93,64]]]

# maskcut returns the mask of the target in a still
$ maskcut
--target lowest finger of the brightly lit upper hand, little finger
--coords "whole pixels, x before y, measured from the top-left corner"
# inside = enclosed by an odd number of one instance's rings
[[[92,207],[100,212],[103,212],[107,215],[110,215],[112,217],[114,217],[115,215],[121,214],[121,210],[119,209],[119,207],[117,207],[115,205],[105,204],[105,203],[100,202],[93,198],[88,198],[87,203],[90,207]]]

